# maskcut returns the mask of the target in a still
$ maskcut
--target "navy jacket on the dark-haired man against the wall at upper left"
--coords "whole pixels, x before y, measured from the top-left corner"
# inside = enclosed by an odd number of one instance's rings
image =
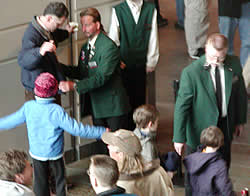
[[[43,42],[54,40],[57,46],[68,38],[68,31],[57,29],[53,33],[45,31],[37,22],[36,17],[26,29],[22,49],[18,55],[18,64],[21,67],[21,82],[28,91],[33,91],[36,77],[43,72],[49,72],[55,76],[58,81],[66,80],[60,70],[60,63],[56,54],[47,52],[44,56],[40,54],[40,47]]]

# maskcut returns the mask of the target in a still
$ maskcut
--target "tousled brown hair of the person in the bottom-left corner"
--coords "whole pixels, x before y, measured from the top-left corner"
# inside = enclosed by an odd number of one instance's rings
[[[0,179],[15,181],[15,175],[23,173],[28,155],[24,151],[10,150],[0,153]]]

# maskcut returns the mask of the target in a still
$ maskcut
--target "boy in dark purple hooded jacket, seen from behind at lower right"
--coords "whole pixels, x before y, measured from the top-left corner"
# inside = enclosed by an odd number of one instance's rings
[[[184,159],[192,196],[235,195],[226,163],[217,152],[224,143],[222,131],[210,126],[202,131],[200,142],[197,152]]]

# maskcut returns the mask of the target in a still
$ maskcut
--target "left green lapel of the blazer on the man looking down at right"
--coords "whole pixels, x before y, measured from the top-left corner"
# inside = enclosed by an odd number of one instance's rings
[[[210,68],[205,68],[205,66],[202,66],[201,70],[201,80],[205,88],[207,89],[207,93],[209,94],[210,99],[214,102],[215,105],[217,105],[216,96],[215,96],[215,90],[213,81],[210,76]]]

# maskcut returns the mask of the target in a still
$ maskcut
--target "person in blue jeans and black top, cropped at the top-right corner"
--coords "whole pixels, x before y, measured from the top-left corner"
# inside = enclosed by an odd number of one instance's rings
[[[218,0],[220,33],[228,38],[228,54],[234,54],[234,36],[239,29],[241,49],[240,61],[244,66],[250,50],[250,1]]]

